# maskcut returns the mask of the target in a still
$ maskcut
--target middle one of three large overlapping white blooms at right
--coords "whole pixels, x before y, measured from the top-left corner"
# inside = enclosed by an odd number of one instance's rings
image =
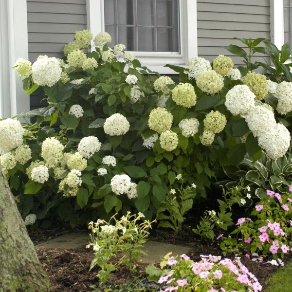
[[[251,108],[244,118],[255,137],[265,134],[276,126],[273,112],[263,106]]]

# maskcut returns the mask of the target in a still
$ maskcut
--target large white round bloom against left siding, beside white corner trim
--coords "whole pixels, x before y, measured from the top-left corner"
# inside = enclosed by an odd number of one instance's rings
[[[32,66],[34,82],[39,86],[47,85],[52,87],[61,78],[62,68],[57,58],[39,56]]]

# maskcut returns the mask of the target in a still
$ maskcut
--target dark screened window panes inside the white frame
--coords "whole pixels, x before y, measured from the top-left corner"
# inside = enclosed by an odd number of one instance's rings
[[[104,0],[110,46],[127,51],[180,52],[178,0]]]

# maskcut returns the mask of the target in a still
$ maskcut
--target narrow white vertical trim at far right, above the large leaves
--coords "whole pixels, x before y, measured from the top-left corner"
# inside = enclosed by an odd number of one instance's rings
[[[271,41],[278,49],[284,44],[284,3],[283,0],[270,0]]]

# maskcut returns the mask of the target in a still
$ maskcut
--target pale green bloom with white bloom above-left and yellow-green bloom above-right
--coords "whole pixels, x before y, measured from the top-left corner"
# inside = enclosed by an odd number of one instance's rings
[[[224,86],[223,77],[214,70],[204,71],[198,75],[197,86],[203,92],[215,94]]]

